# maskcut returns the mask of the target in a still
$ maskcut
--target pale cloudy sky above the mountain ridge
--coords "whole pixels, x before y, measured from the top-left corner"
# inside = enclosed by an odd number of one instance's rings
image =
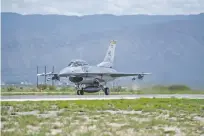
[[[175,15],[204,12],[204,0],[1,0],[2,12],[60,15]]]

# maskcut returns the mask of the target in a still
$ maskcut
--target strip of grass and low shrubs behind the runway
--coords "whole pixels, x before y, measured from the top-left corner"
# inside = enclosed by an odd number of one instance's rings
[[[204,94],[204,90],[193,90],[186,85],[155,85],[139,90],[127,90],[121,87],[110,89],[112,95],[122,94]],[[72,87],[56,88],[51,85],[39,85],[39,87],[16,87],[8,86],[1,88],[1,95],[76,95],[76,90]],[[97,93],[85,93],[85,95],[104,94],[102,91]]]

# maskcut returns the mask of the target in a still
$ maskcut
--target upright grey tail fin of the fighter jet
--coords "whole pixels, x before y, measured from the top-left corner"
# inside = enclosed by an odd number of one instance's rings
[[[106,52],[106,56],[105,56],[103,62],[101,62],[97,66],[109,67],[109,68],[113,67],[113,62],[114,62],[114,58],[115,58],[115,47],[116,47],[116,41],[112,40],[110,42],[110,45],[108,47],[108,51]]]

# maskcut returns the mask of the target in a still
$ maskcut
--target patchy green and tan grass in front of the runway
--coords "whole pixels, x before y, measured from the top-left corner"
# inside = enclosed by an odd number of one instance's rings
[[[1,111],[2,136],[52,133],[56,135],[69,133],[77,136],[100,134],[197,136],[204,133],[204,99],[1,102]],[[114,111],[133,113],[111,113]],[[50,116],[42,116],[48,114]],[[195,117],[203,120],[195,120]]]

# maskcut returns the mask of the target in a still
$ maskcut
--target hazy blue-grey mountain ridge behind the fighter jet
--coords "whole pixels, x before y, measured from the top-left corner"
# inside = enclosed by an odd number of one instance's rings
[[[204,88],[204,14],[1,17],[4,82],[35,82],[37,65],[60,70],[80,48],[82,59],[96,64],[115,39],[117,70],[153,73],[138,82]]]

